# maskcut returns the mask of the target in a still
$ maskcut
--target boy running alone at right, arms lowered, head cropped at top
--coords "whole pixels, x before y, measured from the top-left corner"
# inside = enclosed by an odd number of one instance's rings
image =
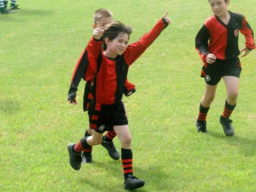
[[[196,122],[198,132],[207,132],[206,116],[215,97],[218,82],[223,78],[227,88],[227,99],[220,123],[227,136],[234,135],[232,120],[229,119],[237,102],[241,63],[238,55],[246,56],[255,49],[251,26],[242,14],[227,10],[230,0],[209,0],[214,15],[209,17],[195,38],[195,49],[204,62],[201,77],[206,90],[199,107]],[[239,51],[239,31],[244,35],[245,47]],[[208,43],[209,41],[209,43]]]

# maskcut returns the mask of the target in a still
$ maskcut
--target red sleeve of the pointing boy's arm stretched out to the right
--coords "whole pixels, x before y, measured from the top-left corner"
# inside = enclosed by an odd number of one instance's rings
[[[146,33],[140,40],[131,43],[125,50],[125,62],[130,66],[144,53],[144,51],[156,40],[160,33],[168,26],[164,18],[160,19],[151,31]]]

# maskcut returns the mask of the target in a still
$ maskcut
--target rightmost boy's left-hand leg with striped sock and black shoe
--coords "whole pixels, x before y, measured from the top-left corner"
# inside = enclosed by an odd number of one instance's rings
[[[206,116],[214,100],[216,89],[217,85],[208,85],[205,83],[204,97],[201,100],[197,122],[195,123],[198,132],[207,132]]]

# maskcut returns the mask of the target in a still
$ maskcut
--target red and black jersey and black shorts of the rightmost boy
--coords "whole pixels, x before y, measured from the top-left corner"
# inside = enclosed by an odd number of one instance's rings
[[[255,49],[254,35],[251,26],[242,14],[230,12],[230,21],[224,24],[216,15],[209,17],[195,38],[195,49],[204,62],[201,77],[208,85],[216,85],[223,76],[240,76],[241,63],[238,55],[239,31],[244,35],[245,46]],[[208,43],[209,41],[209,43]],[[217,59],[213,64],[206,62],[208,54]]]

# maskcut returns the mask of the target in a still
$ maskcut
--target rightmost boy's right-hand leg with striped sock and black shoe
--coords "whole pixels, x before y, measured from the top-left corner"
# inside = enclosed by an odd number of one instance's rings
[[[235,109],[238,97],[239,78],[234,76],[223,76],[227,89],[227,100],[222,115],[220,116],[220,124],[227,136],[235,134],[234,128],[231,125],[233,122],[229,117]]]

